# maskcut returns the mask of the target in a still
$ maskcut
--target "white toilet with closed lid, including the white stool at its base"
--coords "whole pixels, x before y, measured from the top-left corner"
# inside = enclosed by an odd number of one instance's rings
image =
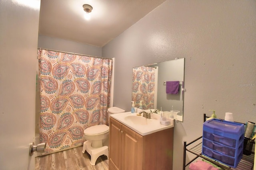
[[[125,110],[119,107],[108,108],[108,122],[111,114],[123,113]],[[103,146],[102,141],[108,139],[109,127],[107,125],[95,125],[84,130],[84,139],[82,153],[88,152],[91,156],[91,165],[95,165],[96,160],[101,155],[108,158],[108,146]]]

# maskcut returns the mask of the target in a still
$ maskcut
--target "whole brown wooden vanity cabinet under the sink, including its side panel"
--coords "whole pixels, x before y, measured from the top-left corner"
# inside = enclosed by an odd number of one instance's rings
[[[110,117],[109,170],[172,170],[173,128],[142,136]]]

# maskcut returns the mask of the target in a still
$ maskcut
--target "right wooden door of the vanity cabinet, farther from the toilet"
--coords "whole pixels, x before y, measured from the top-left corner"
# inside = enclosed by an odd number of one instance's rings
[[[122,170],[142,170],[143,137],[122,126]]]

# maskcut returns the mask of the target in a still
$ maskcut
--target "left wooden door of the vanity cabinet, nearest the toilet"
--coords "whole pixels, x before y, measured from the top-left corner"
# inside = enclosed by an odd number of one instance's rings
[[[110,117],[109,170],[121,170],[122,124]]]

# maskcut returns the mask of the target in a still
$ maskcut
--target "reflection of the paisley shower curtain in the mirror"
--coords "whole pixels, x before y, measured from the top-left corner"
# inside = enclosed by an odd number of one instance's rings
[[[154,108],[155,95],[155,68],[140,66],[133,68],[132,71],[132,101],[135,107],[140,107],[142,100],[143,109]]]

